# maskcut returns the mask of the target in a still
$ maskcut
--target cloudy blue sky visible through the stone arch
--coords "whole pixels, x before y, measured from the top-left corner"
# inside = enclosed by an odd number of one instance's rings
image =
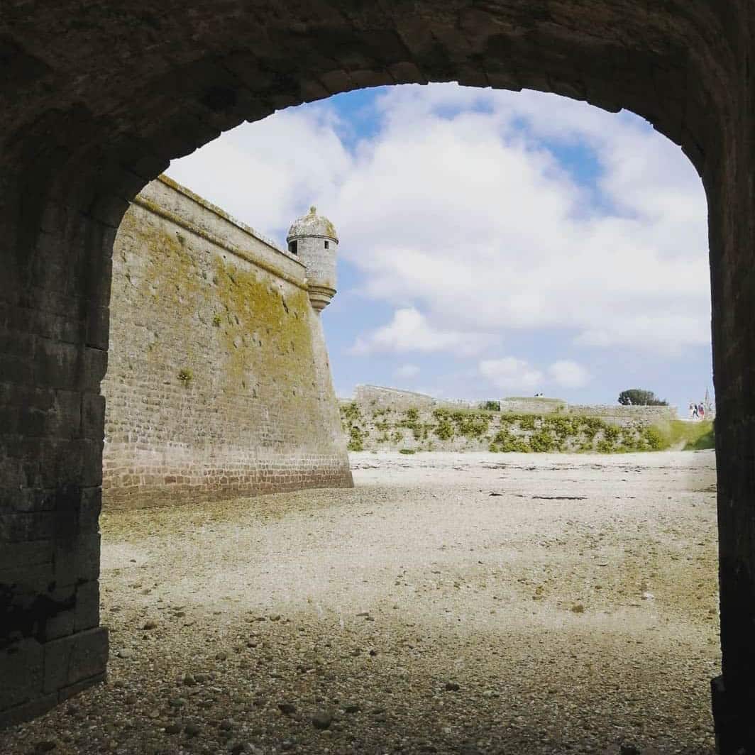
[[[711,384],[707,216],[681,150],[628,112],[454,84],[341,94],[245,124],[168,174],[285,243],[341,237],[322,315],[341,396],[684,408]]]

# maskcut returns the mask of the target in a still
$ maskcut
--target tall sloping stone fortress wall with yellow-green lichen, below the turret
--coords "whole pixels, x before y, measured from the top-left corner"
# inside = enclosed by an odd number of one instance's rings
[[[161,177],[113,249],[103,499],[350,486],[306,269]]]

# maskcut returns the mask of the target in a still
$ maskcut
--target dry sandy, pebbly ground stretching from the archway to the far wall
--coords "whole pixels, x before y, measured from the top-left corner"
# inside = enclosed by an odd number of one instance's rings
[[[0,753],[712,753],[714,465],[357,454],[108,513],[108,683]]]

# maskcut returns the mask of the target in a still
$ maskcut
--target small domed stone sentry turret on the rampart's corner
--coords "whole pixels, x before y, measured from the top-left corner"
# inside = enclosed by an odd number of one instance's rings
[[[294,221],[286,236],[288,251],[307,266],[310,301],[318,312],[330,304],[335,294],[335,253],[338,236],[333,223],[310,207],[306,215]]]

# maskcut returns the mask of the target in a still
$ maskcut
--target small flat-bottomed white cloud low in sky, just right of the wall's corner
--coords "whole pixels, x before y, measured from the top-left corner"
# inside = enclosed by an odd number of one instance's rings
[[[448,351],[458,356],[473,356],[491,342],[489,334],[435,328],[421,312],[406,307],[396,310],[388,325],[357,338],[351,351],[354,354]]]

